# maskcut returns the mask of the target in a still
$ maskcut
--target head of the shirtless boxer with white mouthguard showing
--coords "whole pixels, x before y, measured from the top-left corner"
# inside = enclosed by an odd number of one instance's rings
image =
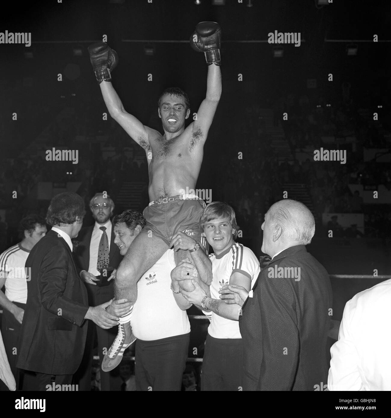
[[[161,104],[158,109],[161,123],[166,132],[179,132],[189,117],[190,109],[186,110],[186,104],[182,96],[172,96],[165,94],[161,98]]]

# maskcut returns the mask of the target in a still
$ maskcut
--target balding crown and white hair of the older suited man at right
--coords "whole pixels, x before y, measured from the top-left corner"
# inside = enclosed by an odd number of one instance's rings
[[[311,211],[296,200],[284,199],[268,210],[273,226],[280,225],[286,240],[307,245],[315,234],[315,219]]]

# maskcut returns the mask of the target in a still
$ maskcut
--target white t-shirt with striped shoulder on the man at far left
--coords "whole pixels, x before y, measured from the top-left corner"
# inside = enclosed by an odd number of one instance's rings
[[[0,275],[4,277],[3,272],[7,272],[5,296],[11,302],[27,302],[27,280],[31,277],[26,279],[25,264],[29,253],[19,243],[0,254]]]

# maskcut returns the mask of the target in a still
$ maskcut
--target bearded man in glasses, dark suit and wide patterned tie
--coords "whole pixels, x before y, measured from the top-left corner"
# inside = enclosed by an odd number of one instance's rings
[[[114,298],[115,272],[122,260],[120,250],[114,244],[114,228],[110,217],[114,211],[114,202],[109,195],[97,193],[89,201],[89,208],[95,224],[82,228],[77,237],[79,245],[74,252],[80,277],[86,283],[88,302],[100,305]],[[114,269],[112,271],[112,269]],[[110,273],[112,271],[112,273]],[[114,314],[114,312],[110,312]],[[94,348],[95,329],[98,342],[100,364],[106,351],[117,335],[117,327],[102,329],[89,323],[87,342],[82,364],[77,372],[79,390],[91,390],[91,366]],[[110,390],[108,372],[100,372],[100,390]]]

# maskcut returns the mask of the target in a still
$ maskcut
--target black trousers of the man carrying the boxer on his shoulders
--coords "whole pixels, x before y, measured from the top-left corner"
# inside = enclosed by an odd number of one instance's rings
[[[136,390],[180,391],[189,334],[153,341],[136,340]]]

